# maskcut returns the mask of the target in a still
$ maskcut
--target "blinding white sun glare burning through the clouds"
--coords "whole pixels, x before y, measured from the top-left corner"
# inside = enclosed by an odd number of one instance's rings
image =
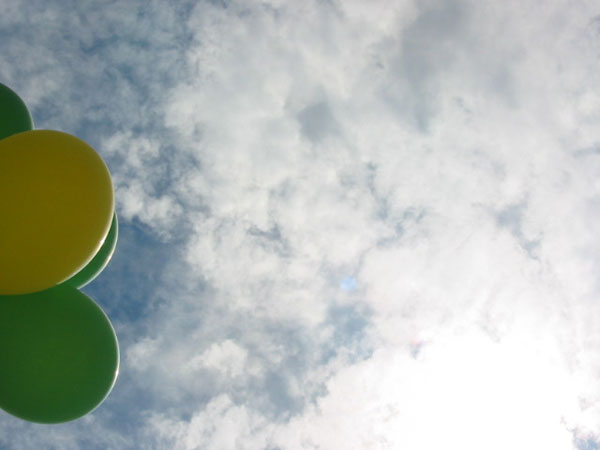
[[[576,392],[550,339],[438,336],[413,368],[404,401],[415,408],[399,430],[410,448],[571,448]]]

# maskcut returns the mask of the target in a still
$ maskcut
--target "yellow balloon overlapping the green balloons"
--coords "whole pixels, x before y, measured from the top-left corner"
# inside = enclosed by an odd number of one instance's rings
[[[113,212],[110,173],[82,140],[51,130],[0,140],[0,295],[77,273],[104,242]]]

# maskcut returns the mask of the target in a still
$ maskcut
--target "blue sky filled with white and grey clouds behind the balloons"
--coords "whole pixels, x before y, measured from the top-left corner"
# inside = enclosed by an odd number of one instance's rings
[[[121,351],[2,449],[600,449],[596,0],[0,0],[106,161]]]

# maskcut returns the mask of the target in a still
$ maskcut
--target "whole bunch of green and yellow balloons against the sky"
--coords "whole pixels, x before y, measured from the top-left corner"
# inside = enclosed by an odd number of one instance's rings
[[[119,371],[110,320],[79,288],[117,242],[110,173],[75,136],[34,130],[0,84],[0,408],[60,423],[96,408]]]

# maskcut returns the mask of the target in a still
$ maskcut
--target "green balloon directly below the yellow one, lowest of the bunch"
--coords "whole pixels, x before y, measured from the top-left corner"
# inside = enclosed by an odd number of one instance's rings
[[[119,344],[104,312],[71,286],[0,296],[0,408],[38,423],[77,419],[111,391]]]

